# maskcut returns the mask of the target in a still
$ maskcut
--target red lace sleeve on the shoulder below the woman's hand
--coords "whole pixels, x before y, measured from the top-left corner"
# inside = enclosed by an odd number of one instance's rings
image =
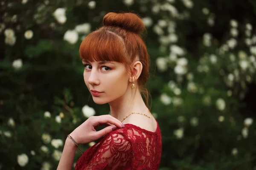
[[[120,170],[131,166],[131,142],[125,135],[117,132],[118,130],[105,136],[84,170]]]

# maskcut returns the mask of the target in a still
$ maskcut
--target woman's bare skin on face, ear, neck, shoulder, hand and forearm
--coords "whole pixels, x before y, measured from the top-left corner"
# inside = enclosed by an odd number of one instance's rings
[[[119,62],[86,62],[84,64],[84,82],[88,90],[102,92],[93,96],[93,101],[99,105],[108,103],[111,115],[91,116],[83,124],[73,130],[70,135],[78,144],[87,144],[110,133],[111,125],[122,128],[122,123],[131,123],[146,130],[154,131],[156,123],[146,107],[139,88],[131,89],[131,82],[137,86],[137,79],[142,71],[142,63],[136,61],[131,65],[131,71]],[[131,112],[146,114],[151,119],[140,114],[132,114],[122,123],[122,119]],[[143,121],[142,121],[143,120]],[[105,125],[102,130],[96,131],[100,125]],[[76,152],[76,145],[67,137],[57,170],[71,170]]]

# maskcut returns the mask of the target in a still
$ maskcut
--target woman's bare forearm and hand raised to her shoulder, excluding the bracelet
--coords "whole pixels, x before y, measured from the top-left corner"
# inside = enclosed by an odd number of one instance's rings
[[[99,127],[100,125],[105,125],[108,127],[96,131],[96,127]],[[78,144],[87,144],[112,132],[117,127],[122,128],[124,125],[122,125],[118,119],[111,115],[91,116],[72,133],[70,133],[70,136],[72,136]],[[75,152],[76,145],[71,139],[67,138],[57,170],[71,170]]]

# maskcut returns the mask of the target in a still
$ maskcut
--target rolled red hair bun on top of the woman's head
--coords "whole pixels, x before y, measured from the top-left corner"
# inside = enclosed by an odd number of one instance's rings
[[[118,26],[136,34],[141,34],[145,30],[143,21],[133,13],[109,12],[103,18],[103,26]]]

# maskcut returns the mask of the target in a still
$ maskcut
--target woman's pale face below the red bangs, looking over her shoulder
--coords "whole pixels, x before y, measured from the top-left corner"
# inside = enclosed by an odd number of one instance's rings
[[[105,104],[123,96],[128,89],[129,74],[120,62],[86,62],[84,82],[97,104]],[[98,92],[96,92],[98,91]]]

